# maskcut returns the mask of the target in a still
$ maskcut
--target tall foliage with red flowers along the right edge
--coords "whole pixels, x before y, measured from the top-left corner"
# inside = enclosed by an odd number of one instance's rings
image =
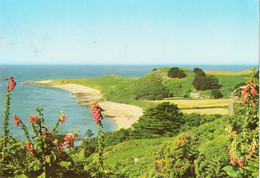
[[[259,161],[259,86],[256,83],[256,71],[253,69],[250,78],[246,78],[246,86],[241,91],[241,101],[234,105],[234,120],[230,120],[232,129],[229,146],[230,160],[233,165],[226,166],[230,176],[256,177]]]

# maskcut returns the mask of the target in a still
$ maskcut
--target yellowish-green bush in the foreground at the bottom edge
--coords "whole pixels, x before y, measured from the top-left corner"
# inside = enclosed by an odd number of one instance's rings
[[[198,153],[196,138],[182,133],[173,141],[164,142],[153,162],[154,175],[189,177],[195,174],[194,160]]]

